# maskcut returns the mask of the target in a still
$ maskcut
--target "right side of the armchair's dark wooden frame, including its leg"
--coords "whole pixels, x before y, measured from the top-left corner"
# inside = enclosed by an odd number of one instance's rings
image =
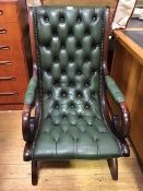
[[[106,11],[106,26],[105,26],[105,41],[104,41],[104,75],[108,75],[108,69],[107,69],[107,59],[108,59],[108,45],[109,45],[109,32],[110,32],[110,26],[109,26],[109,9]],[[105,80],[103,81],[105,82]],[[106,84],[104,84],[106,87]],[[104,89],[104,88],[103,88]],[[107,89],[107,87],[106,87]],[[108,91],[109,93],[109,91]],[[114,110],[109,104],[108,97],[106,93],[103,93],[103,106],[104,106],[104,115],[106,116],[106,119],[110,121],[112,120],[112,126],[111,126],[111,131],[120,139],[122,142],[122,146],[124,148],[124,156],[130,155],[130,151],[127,146],[127,142],[124,141],[124,138],[129,135],[130,132],[130,126],[131,126],[131,119],[130,119],[130,112],[127,107],[127,104],[124,102],[121,103],[115,103],[117,107],[120,110],[120,116],[117,116],[117,114],[114,114]],[[110,95],[111,97],[111,95]],[[111,97],[112,98],[112,97]],[[114,99],[114,98],[112,98]],[[121,121],[121,122],[120,122]],[[122,128],[121,128],[122,127]],[[112,177],[112,180],[118,180],[118,159],[117,158],[109,158],[107,159],[109,170]]]

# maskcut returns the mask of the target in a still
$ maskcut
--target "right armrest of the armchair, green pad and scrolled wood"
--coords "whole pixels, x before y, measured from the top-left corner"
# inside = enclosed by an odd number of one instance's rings
[[[127,138],[130,132],[131,119],[129,109],[126,104],[126,98],[121,93],[121,91],[119,89],[116,82],[114,81],[114,79],[111,79],[109,75],[106,75],[105,82],[111,98],[118,106],[121,114],[120,116],[119,115],[114,116],[112,119],[114,127],[116,128],[117,132],[120,134],[121,138]]]

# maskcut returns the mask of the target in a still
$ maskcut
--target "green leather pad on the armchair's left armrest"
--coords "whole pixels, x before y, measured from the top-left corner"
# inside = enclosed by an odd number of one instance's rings
[[[37,77],[32,77],[25,94],[24,104],[31,105],[34,102]]]

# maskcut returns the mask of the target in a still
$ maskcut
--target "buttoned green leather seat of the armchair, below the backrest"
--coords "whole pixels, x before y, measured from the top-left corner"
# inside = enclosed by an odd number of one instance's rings
[[[88,118],[88,117],[87,117]],[[76,121],[74,123],[74,121]],[[43,119],[34,144],[33,159],[102,159],[121,156],[120,143],[103,120],[86,117]]]

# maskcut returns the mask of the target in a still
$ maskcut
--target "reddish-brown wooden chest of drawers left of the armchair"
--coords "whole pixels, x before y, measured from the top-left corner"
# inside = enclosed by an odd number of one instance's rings
[[[0,110],[21,109],[32,67],[26,2],[0,0]]]

